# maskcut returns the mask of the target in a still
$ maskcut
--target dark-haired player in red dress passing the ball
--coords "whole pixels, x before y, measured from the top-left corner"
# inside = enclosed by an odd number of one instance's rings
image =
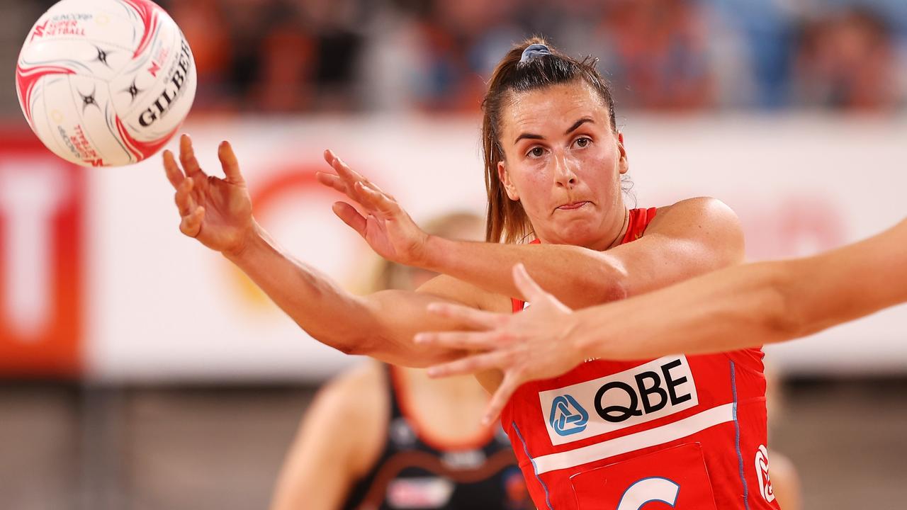
[[[463,355],[414,342],[418,331],[465,326],[429,314],[428,304],[522,309],[510,274],[517,262],[554,296],[582,307],[742,259],[736,215],[719,201],[626,208],[620,176],[628,171],[628,152],[594,62],[552,52],[538,40],[521,44],[495,69],[483,113],[490,242],[428,236],[393,197],[326,152],[336,173],[322,174],[322,182],[366,213],[338,203],[336,214],[386,259],[444,273],[415,292],[353,296],[280,250],[254,221],[226,142],[219,149],[223,180],[201,172],[187,138],[180,147],[184,170],[164,154],[180,230],[222,252],[318,341],[410,366]],[[516,242],[526,237],[536,242]],[[512,377],[500,370],[477,375],[491,391]],[[520,387],[502,426],[540,508],[636,510],[652,499],[677,508],[776,508],[764,464],[755,462],[766,444],[764,392],[757,348],[590,360]]]

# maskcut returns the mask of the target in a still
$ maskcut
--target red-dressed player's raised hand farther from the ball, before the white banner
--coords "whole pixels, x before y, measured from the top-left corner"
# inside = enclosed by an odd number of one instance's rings
[[[372,250],[386,260],[424,266],[428,234],[415,224],[395,198],[349,168],[334,152],[325,151],[325,161],[334,172],[317,172],[317,180],[344,193],[365,212],[365,215],[360,214],[349,203],[338,201],[333,208],[337,217],[356,230]]]

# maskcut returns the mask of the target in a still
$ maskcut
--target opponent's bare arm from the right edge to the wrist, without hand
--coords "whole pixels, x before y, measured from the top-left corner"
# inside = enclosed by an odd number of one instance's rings
[[[574,340],[587,357],[721,352],[803,337],[903,301],[907,221],[814,257],[736,266],[580,310]]]

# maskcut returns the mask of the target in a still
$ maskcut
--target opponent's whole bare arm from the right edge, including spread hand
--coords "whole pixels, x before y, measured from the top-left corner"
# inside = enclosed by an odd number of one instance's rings
[[[478,352],[430,368],[434,376],[500,368],[488,417],[516,387],[560,375],[583,359],[649,359],[755,348],[799,338],[907,301],[907,221],[838,250],[735,266],[632,299],[573,312],[522,266],[516,285],[532,307],[497,315],[444,304],[432,309],[474,332],[416,341]]]

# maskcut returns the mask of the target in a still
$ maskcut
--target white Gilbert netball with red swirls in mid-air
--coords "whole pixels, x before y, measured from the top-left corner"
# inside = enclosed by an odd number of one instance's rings
[[[149,0],[63,0],[26,37],[15,84],[48,149],[119,166],[158,152],[180,128],[195,62],[180,27]]]

